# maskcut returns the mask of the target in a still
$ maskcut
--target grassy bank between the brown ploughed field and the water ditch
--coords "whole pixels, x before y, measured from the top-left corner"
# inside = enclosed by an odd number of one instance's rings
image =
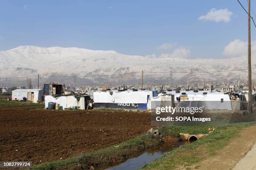
[[[66,160],[56,160],[49,163],[36,165],[32,170],[57,170],[57,169],[88,169],[91,166],[107,165],[113,162],[124,161],[136,153],[146,148],[159,145],[160,141],[156,138],[148,138],[141,135],[138,138],[128,140],[117,146],[104,148],[101,150],[85,153],[79,157],[72,157]]]

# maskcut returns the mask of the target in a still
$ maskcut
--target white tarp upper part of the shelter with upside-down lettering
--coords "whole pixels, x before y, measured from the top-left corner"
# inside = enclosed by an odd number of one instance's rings
[[[95,103],[147,103],[148,95],[152,95],[152,91],[110,91],[93,92],[93,100]]]

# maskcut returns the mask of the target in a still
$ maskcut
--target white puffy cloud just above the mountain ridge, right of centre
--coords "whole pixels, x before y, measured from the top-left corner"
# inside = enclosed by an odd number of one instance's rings
[[[180,47],[175,49],[172,53],[161,54],[159,58],[187,58],[191,54],[190,49]]]

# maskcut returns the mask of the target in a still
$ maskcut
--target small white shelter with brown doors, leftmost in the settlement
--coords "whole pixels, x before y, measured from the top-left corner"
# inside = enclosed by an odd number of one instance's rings
[[[16,89],[12,91],[12,100],[24,100],[36,103],[44,100],[43,89]]]

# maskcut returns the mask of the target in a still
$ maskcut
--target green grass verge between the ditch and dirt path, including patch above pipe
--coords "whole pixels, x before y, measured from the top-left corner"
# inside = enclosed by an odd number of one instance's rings
[[[185,168],[194,163],[198,163],[201,160],[205,160],[218,153],[218,150],[228,145],[230,139],[238,136],[241,129],[246,128],[249,125],[253,125],[255,122],[234,123],[229,125],[215,126],[215,131],[208,136],[200,138],[199,140],[189,144],[183,145],[179,148],[171,150],[161,158],[154,160],[152,163],[143,166],[141,169],[177,169],[184,166]],[[172,129],[172,134],[177,133],[206,133],[208,129],[204,126],[198,127],[164,127],[165,131]]]

